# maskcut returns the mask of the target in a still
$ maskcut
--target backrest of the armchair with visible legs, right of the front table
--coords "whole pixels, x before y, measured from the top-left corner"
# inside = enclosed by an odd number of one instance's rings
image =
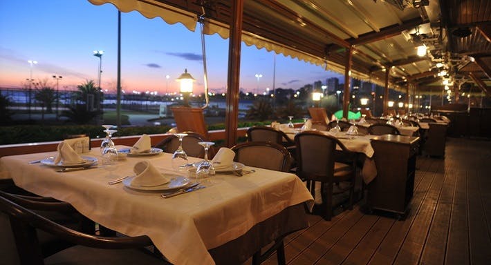
[[[335,137],[315,131],[295,135],[297,175],[302,179],[328,182],[334,175],[336,146],[346,150]]]

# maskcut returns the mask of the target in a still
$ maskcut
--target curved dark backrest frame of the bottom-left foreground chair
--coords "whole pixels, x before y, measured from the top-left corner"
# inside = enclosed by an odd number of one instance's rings
[[[46,219],[33,212],[30,208],[53,210],[70,208],[64,202],[33,202],[9,195],[0,191],[0,211],[10,217],[10,226],[15,237],[15,244],[21,264],[44,264],[37,239],[36,228],[46,233],[61,237],[73,244],[81,244],[93,248],[136,248],[151,246],[152,242],[146,235],[138,237],[99,237],[72,230],[62,224]]]

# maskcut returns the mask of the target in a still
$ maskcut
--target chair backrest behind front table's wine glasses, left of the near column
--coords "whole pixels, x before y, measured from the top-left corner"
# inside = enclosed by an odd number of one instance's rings
[[[184,133],[187,134],[187,136],[183,137],[183,149],[186,152],[186,155],[189,157],[205,157],[205,150],[198,144],[200,141],[205,141],[205,137],[194,132]],[[179,147],[179,138],[175,135],[171,135],[160,141],[160,143],[156,144],[154,147],[160,148],[166,153],[174,153]]]

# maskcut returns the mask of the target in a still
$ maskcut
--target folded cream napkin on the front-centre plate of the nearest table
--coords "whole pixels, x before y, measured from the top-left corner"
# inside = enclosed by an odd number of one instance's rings
[[[168,177],[158,172],[157,168],[147,160],[136,163],[133,167],[133,172],[136,176],[131,179],[132,186],[153,187],[170,181]]]

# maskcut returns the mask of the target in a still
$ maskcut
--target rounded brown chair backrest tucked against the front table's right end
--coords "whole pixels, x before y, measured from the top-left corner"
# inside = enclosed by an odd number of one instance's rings
[[[234,161],[246,166],[288,172],[293,161],[290,152],[270,141],[248,141],[232,147]]]

